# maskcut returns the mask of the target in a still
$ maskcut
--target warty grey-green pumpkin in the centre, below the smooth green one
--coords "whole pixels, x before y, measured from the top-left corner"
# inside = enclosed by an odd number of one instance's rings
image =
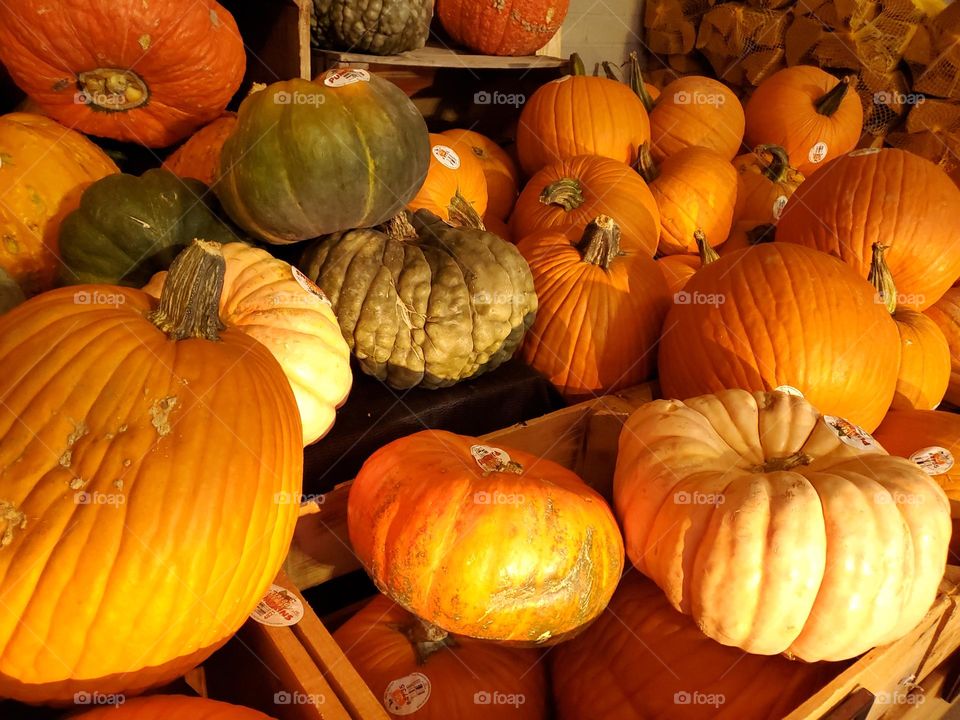
[[[405,217],[319,240],[301,260],[360,367],[394,388],[439,388],[509,360],[537,311],[517,248],[427,210]]]

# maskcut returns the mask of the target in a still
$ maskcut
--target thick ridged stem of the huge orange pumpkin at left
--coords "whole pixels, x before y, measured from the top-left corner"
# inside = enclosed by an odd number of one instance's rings
[[[225,271],[220,243],[194,240],[170,265],[160,305],[147,318],[171,340],[219,340]]]

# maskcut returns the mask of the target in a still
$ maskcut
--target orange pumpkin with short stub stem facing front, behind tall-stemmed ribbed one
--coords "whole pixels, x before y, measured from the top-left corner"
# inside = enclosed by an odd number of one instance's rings
[[[582,228],[597,215],[617,221],[624,249],[653,257],[660,238],[657,201],[637,173],[597,155],[541,169],[520,193],[510,226],[519,242],[541,230]]]

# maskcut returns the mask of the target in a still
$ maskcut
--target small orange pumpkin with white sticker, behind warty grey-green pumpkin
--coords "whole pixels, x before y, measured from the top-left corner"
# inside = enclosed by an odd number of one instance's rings
[[[424,208],[455,225],[476,227],[487,211],[487,181],[472,147],[462,139],[430,133],[427,179],[407,207]]]

